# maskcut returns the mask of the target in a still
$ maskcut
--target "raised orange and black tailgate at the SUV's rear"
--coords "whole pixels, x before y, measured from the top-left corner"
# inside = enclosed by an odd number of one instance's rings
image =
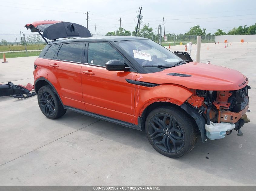
[[[38,32],[46,43],[48,42],[45,38],[56,40],[68,37],[91,37],[90,31],[86,27],[70,22],[35,21],[31,24],[26,24],[25,27],[27,30],[30,29],[31,32]]]

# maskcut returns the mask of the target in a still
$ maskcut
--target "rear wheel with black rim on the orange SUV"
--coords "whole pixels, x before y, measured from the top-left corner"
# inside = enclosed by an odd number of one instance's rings
[[[51,85],[42,86],[38,90],[37,100],[40,110],[49,119],[57,119],[67,111],[62,106]]]

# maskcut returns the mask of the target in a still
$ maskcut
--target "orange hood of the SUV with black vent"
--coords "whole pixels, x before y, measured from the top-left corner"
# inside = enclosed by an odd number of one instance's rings
[[[191,77],[170,76],[169,73],[192,75]],[[156,84],[178,84],[198,90],[239,90],[248,84],[240,72],[221,66],[189,62],[161,72],[141,74],[140,81]],[[240,86],[239,86],[240,85]]]

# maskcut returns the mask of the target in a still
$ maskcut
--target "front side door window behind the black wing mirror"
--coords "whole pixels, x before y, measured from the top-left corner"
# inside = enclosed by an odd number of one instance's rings
[[[88,63],[105,66],[109,60],[121,60],[123,57],[113,49],[108,43],[89,43],[88,46]]]

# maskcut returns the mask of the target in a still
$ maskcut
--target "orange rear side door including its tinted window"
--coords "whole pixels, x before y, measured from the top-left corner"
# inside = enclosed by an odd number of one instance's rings
[[[63,43],[48,65],[48,80],[66,106],[85,110],[81,87],[81,67],[85,43]]]

